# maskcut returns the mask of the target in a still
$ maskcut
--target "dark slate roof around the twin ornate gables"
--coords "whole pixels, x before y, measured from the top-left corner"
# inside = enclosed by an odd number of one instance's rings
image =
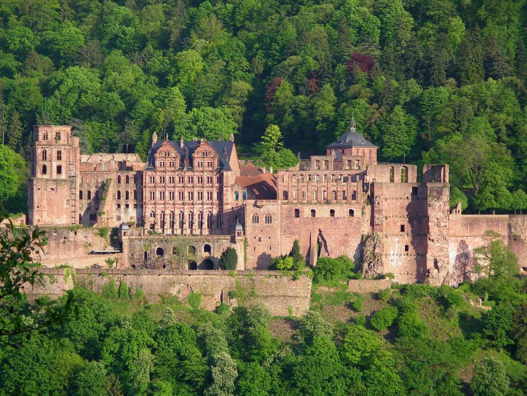
[[[218,168],[224,171],[232,170],[230,167],[229,159],[232,155],[232,150],[234,148],[234,142],[230,140],[207,140],[209,146],[216,151],[218,154]],[[179,153],[180,164],[179,168],[183,168],[184,160],[190,160],[190,167],[193,167],[192,163],[192,154],[194,150],[198,148],[201,141],[199,140],[184,140],[183,147],[181,147],[181,142],[179,140],[170,140],[170,145],[174,148],[175,151]],[[150,148],[147,161],[147,169],[154,169],[154,154],[163,144],[163,140],[158,140]]]

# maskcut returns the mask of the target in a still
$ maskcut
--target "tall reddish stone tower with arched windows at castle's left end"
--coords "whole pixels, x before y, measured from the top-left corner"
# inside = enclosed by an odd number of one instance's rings
[[[28,224],[79,223],[79,138],[71,127],[35,125],[31,175],[27,182]]]

